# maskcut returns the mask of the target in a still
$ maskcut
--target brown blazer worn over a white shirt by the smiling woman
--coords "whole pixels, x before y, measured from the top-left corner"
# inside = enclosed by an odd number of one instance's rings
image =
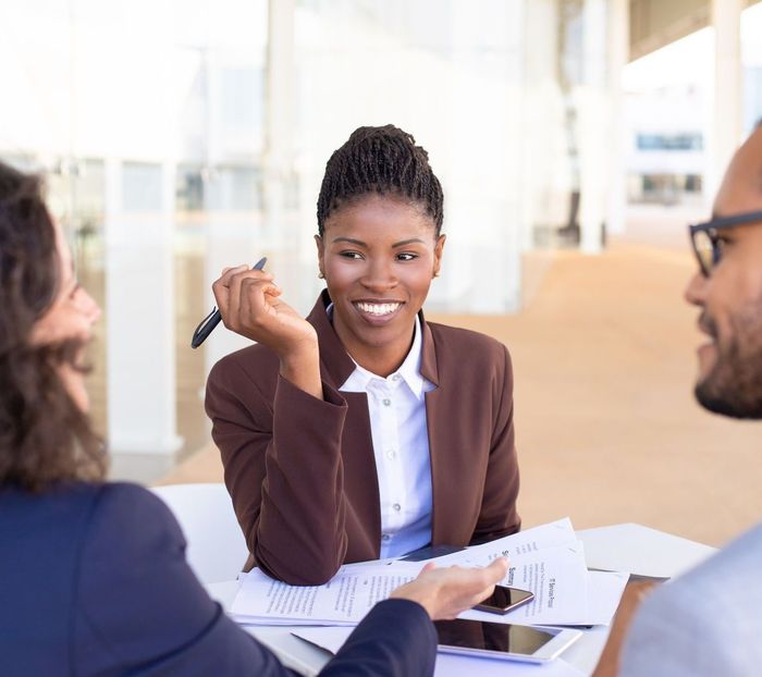
[[[323,292],[307,318],[320,344],[324,401],[279,376],[253,345],[207,382],[206,409],[224,477],[256,563],[275,578],[316,584],[345,562],[376,559],[381,515],[365,393],[336,389],[355,364],[333,331]],[[433,488],[432,543],[468,545],[518,531],[513,372],[505,346],[423,320],[421,374]]]

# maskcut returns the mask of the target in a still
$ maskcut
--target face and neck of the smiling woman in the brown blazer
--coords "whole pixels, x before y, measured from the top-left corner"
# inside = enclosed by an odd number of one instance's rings
[[[369,371],[388,377],[405,359],[444,237],[419,207],[380,195],[337,210],[316,236],[333,329]]]

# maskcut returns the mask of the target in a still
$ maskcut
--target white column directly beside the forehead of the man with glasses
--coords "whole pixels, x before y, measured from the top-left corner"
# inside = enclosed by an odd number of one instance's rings
[[[745,0],[712,0],[714,96],[704,183],[704,197],[710,202],[741,140],[740,19],[745,7]]]

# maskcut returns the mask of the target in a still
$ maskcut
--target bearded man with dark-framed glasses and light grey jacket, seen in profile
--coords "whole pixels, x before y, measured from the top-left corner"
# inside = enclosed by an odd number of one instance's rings
[[[708,337],[696,397],[716,414],[762,419],[762,126],[733,158],[714,217],[691,225],[690,238],[699,271],[686,299]],[[762,465],[750,471],[762,480]],[[630,587],[594,673],[613,675],[762,675],[762,522],[674,582]]]

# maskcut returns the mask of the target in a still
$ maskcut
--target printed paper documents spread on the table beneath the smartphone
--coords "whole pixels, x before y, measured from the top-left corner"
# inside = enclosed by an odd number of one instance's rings
[[[438,566],[486,566],[511,559],[505,586],[531,590],[534,600],[505,615],[467,611],[460,618],[520,625],[607,625],[626,574],[588,571],[582,544],[568,518],[438,557]],[[248,574],[231,607],[234,618],[261,625],[356,625],[392,590],[413,580],[425,563],[344,565],[324,586],[287,586],[260,570]]]

